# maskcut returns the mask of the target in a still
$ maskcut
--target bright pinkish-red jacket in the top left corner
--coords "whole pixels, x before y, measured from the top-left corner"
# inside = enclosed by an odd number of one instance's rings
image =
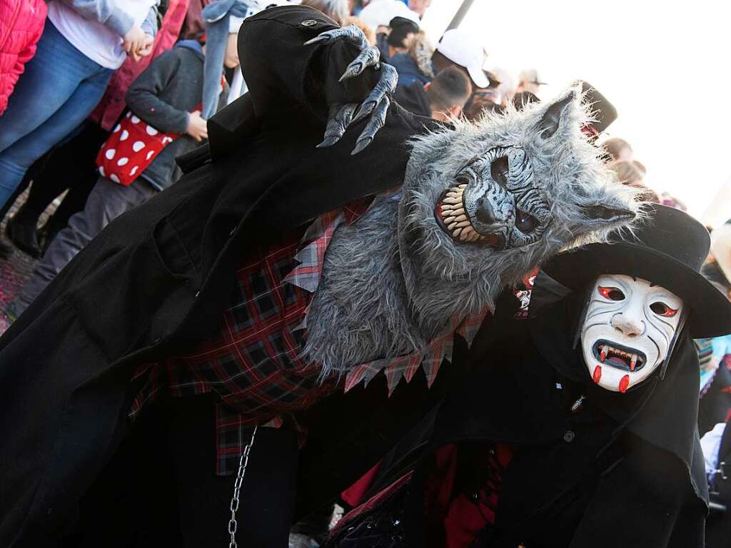
[[[0,115],[36,53],[47,11],[44,0],[0,0]]]

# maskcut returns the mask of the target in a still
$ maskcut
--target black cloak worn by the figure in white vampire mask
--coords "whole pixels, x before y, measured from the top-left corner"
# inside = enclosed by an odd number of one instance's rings
[[[475,546],[703,546],[708,494],[692,340],[678,340],[664,379],[609,392],[573,347],[577,300],[535,319],[486,322],[463,381],[385,458],[371,494],[414,469],[405,546],[439,546],[423,538],[423,482],[433,451],[455,442],[518,448],[502,476],[495,527]]]

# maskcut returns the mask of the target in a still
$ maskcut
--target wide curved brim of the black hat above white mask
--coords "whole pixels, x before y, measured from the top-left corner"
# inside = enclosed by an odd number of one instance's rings
[[[592,243],[553,257],[542,270],[573,290],[586,288],[602,274],[643,278],[681,297],[691,310],[688,327],[693,338],[731,333],[731,302],[727,297],[696,270],[653,248],[624,241]]]

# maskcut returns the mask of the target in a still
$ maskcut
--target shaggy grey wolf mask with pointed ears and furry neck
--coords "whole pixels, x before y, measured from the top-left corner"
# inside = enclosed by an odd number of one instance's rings
[[[548,257],[629,224],[636,191],[603,166],[588,118],[572,88],[415,140],[398,199],[338,227],[327,248],[308,358],[327,374],[423,352]]]

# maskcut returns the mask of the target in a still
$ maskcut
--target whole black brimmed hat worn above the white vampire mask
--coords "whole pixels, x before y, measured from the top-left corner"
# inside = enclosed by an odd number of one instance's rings
[[[694,338],[731,333],[731,302],[701,274],[711,238],[681,210],[647,205],[646,217],[626,240],[565,251],[543,271],[569,289],[583,289],[601,274],[625,274],[657,283],[683,299]]]

